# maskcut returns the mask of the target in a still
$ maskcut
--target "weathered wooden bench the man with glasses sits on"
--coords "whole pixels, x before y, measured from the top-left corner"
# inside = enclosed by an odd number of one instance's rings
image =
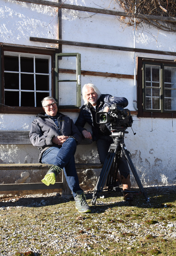
[[[85,142],[83,144],[86,144]],[[29,131],[4,131],[0,130],[0,145],[31,145],[29,140]],[[50,164],[0,164],[1,170],[48,170]],[[77,169],[94,169],[102,168],[102,164],[76,164]],[[56,182],[54,185],[46,186],[44,183],[15,183],[0,184],[0,191],[33,191],[33,190],[54,190],[62,189],[62,197],[69,198],[71,195],[70,188],[66,182],[64,173],[62,172],[62,181]]]

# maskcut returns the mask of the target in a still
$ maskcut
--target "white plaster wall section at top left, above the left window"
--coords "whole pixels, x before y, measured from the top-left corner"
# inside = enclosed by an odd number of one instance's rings
[[[0,0],[0,42],[41,46],[39,42],[30,42],[29,37],[58,38],[57,8]],[[55,47],[55,44],[42,46]]]

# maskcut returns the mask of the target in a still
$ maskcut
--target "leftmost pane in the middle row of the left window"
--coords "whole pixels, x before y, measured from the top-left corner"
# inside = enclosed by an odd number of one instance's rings
[[[11,90],[19,90],[19,74],[4,73],[4,88]]]

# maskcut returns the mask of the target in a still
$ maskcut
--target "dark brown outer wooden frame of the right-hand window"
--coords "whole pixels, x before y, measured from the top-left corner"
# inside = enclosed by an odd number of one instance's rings
[[[176,62],[172,60],[162,60],[162,59],[151,59],[137,57],[137,108],[138,117],[154,117],[154,118],[176,118],[176,111],[155,111],[155,110],[145,110],[145,98],[144,98],[144,86],[143,86],[143,63],[149,63],[150,65],[167,64],[171,66],[176,66]],[[162,112],[163,111],[163,112]]]

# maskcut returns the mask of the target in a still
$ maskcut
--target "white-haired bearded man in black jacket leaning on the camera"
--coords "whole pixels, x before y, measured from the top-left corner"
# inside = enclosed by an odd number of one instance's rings
[[[108,129],[110,124],[97,124],[95,115],[97,112],[108,112],[109,108],[113,104],[118,104],[118,106],[123,108],[127,107],[128,100],[124,97],[114,97],[110,94],[101,94],[99,89],[94,84],[84,84],[82,89],[82,96],[84,99],[84,105],[81,107],[81,111],[77,121],[75,122],[75,125],[83,134],[84,138],[89,138],[93,139],[93,141],[96,141],[99,159],[103,164],[106,159],[110,144],[113,143],[113,139],[110,137],[111,133]],[[92,126],[92,134],[84,128],[86,122]],[[128,162],[123,154],[121,154],[118,169],[121,174],[124,199],[132,200],[131,193],[125,192],[125,190],[127,191],[131,189],[131,182]]]

